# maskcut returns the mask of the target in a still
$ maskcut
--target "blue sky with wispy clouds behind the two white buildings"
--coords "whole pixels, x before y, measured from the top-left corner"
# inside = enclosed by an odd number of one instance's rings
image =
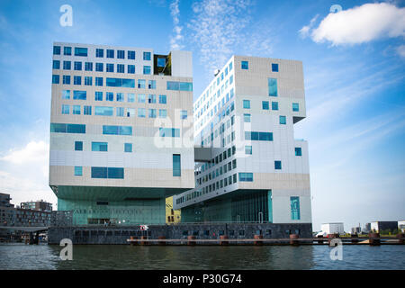
[[[59,7],[73,8],[62,27]],[[331,13],[332,4],[342,11]],[[0,3],[0,192],[46,199],[53,41],[193,51],[194,99],[231,55],[302,60],[313,229],[405,219],[405,2]]]

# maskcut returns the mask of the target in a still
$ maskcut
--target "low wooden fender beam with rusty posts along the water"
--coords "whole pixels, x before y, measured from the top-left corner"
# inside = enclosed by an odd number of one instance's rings
[[[332,241],[338,239],[338,241]],[[336,235],[328,238],[299,238],[297,234],[290,235],[290,238],[263,238],[263,236],[255,235],[255,238],[228,238],[220,236],[215,239],[201,239],[195,236],[188,238],[171,238],[166,239],[159,237],[157,239],[148,239],[146,236],[141,238],[130,237],[127,239],[131,245],[338,245],[340,242],[344,245],[403,245],[405,242],[404,234],[399,234],[393,237],[337,237]]]

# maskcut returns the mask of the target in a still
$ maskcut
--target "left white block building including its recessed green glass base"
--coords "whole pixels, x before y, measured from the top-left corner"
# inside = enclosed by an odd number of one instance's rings
[[[49,186],[75,225],[165,223],[194,187],[192,53],[55,42]]]

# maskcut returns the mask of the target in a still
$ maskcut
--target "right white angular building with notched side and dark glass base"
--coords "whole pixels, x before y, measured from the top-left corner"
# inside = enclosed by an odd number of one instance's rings
[[[305,110],[301,61],[230,58],[193,104],[200,148],[195,188],[174,199],[182,221],[311,223],[308,144],[294,138]]]

